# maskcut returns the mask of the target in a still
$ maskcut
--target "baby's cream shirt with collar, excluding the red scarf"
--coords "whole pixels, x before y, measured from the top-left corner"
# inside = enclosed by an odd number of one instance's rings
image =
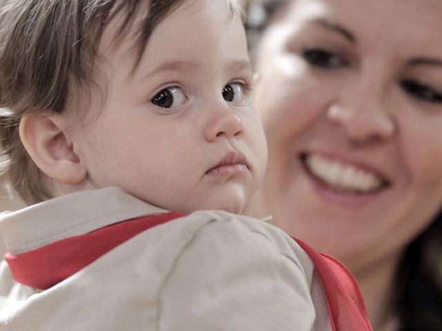
[[[165,212],[118,188],[68,194],[3,215],[19,254],[127,219]],[[307,254],[278,228],[198,211],[146,230],[36,293],[0,268],[0,330],[331,330]]]

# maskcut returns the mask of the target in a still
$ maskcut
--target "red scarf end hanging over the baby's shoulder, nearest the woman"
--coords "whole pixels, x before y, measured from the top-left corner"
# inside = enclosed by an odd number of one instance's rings
[[[352,273],[334,257],[316,252],[299,239],[293,239],[307,252],[323,282],[332,330],[372,331],[362,294]]]

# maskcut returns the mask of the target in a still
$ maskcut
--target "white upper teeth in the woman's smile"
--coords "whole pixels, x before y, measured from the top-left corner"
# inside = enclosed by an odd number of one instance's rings
[[[311,173],[331,188],[366,193],[383,185],[383,181],[376,174],[354,168],[352,165],[343,165],[319,155],[308,155],[306,161]]]

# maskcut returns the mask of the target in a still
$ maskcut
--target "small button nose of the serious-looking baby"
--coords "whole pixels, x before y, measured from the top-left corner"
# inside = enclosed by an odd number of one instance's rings
[[[230,139],[242,134],[244,130],[242,118],[227,104],[216,107],[204,123],[204,138],[215,141],[219,137]]]

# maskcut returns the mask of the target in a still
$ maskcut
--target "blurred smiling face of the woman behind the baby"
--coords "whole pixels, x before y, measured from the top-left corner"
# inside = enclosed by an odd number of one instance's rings
[[[251,208],[354,272],[442,205],[442,2],[296,0],[258,51],[269,141]]]

